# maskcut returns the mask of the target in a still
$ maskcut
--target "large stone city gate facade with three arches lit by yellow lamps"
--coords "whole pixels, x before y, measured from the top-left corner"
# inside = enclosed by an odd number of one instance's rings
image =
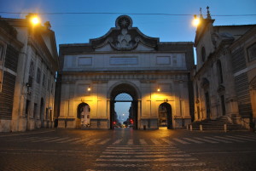
[[[161,43],[121,15],[115,27],[90,43],[61,44],[60,61],[59,128],[80,128],[82,123],[113,128],[115,97],[122,93],[132,97],[134,128],[159,128],[160,108],[166,110],[168,128],[191,122],[193,43]]]

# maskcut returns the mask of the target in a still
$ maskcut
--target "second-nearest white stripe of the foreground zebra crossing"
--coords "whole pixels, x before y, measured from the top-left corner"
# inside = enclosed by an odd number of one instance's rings
[[[97,158],[96,162],[177,162],[177,161],[195,161],[198,160],[194,157],[188,157],[188,158],[144,158],[144,159],[119,159],[119,158],[111,158],[111,159],[105,159],[105,158]]]

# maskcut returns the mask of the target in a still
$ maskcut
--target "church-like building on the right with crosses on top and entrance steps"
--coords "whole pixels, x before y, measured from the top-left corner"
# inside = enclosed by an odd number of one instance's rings
[[[256,116],[256,27],[213,26],[213,22],[207,11],[196,30],[195,121],[225,116],[249,127]]]

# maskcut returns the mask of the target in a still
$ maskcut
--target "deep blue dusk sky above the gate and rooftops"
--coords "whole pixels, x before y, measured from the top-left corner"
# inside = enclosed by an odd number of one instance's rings
[[[42,23],[49,20],[55,31],[57,46],[89,43],[90,38],[102,37],[121,14],[131,16],[134,27],[149,37],[160,37],[161,42],[194,42],[193,14],[200,14],[202,8],[206,16],[207,6],[215,19],[214,26],[256,24],[255,0],[0,0],[0,15],[24,19],[26,14],[10,13],[41,13]],[[250,15],[237,16],[244,14]]]

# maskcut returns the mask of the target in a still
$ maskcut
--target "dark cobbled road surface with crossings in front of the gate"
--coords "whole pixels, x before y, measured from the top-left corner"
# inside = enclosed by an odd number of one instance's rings
[[[38,129],[0,134],[0,170],[256,170],[256,134]]]

